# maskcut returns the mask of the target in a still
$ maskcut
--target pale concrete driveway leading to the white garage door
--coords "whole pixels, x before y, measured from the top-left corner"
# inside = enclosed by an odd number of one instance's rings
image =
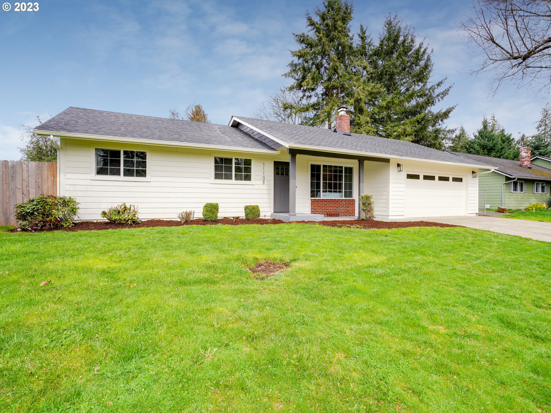
[[[551,242],[551,222],[491,218],[489,216],[438,216],[436,218],[418,218],[417,220],[461,225],[477,230],[494,231]]]

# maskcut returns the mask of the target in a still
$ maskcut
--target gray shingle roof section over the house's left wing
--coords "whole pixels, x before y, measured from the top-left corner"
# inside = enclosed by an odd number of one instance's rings
[[[251,135],[226,125],[128,115],[69,107],[35,128],[39,131],[84,133],[130,139],[152,139],[198,145],[274,150]]]

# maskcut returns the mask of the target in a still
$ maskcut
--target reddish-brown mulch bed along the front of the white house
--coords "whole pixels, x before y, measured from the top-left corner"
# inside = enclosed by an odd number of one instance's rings
[[[351,221],[295,221],[302,224],[321,224],[332,227],[352,227],[352,228],[363,228],[363,229],[392,229],[392,228],[408,228],[408,227],[419,227],[419,226],[437,226],[437,227],[456,227],[458,225],[450,224],[440,224],[439,222],[429,222],[429,221],[411,221],[411,222],[386,222],[386,221],[365,221],[365,220],[351,220]],[[284,222],[279,219],[257,219],[257,220],[246,220],[244,218],[221,218],[216,222],[212,221],[203,221],[203,219],[195,219],[191,222],[186,222],[182,224],[180,221],[174,220],[164,220],[164,219],[148,219],[142,221],[140,224],[136,225],[121,225],[121,224],[111,224],[110,222],[94,222],[94,221],[81,221],[76,222],[71,228],[64,230],[37,230],[34,232],[49,232],[49,231],[90,231],[90,230],[118,230],[118,229],[127,229],[127,228],[150,228],[150,227],[159,227],[159,226],[184,226],[184,225],[273,225],[273,224],[289,224],[289,222]],[[17,229],[7,230],[8,232],[18,232]]]

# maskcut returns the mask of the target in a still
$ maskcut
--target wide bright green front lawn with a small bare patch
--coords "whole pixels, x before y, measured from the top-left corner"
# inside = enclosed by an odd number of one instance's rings
[[[0,410],[549,412],[548,248],[467,228],[0,233]],[[290,267],[257,280],[264,258]]]

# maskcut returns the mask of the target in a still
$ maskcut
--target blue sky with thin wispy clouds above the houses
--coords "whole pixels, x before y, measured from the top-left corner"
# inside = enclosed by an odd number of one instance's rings
[[[4,0],[2,0],[3,2]],[[214,123],[250,116],[295,48],[293,32],[321,0],[41,1],[37,12],[0,10],[0,159],[19,159],[19,124],[68,106],[168,117],[203,105]],[[356,1],[353,29],[374,37],[388,13],[413,24],[434,48],[434,80],[453,84],[450,127],[469,132],[495,113],[507,131],[531,134],[545,99],[512,88],[488,96],[489,81],[466,72],[477,55],[456,21],[470,1]]]

